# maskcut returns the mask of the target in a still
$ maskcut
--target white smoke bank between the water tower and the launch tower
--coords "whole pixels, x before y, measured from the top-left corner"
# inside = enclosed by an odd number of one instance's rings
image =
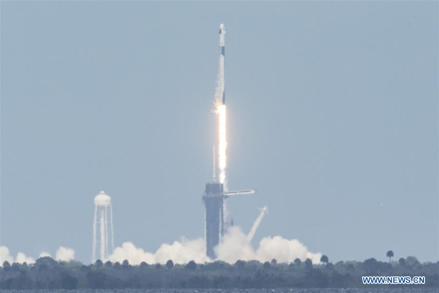
[[[181,242],[175,241],[173,244],[162,244],[155,253],[146,252],[141,248],[137,248],[131,242],[125,242],[122,247],[117,247],[108,257],[112,262],[122,262],[128,260],[132,265],[138,265],[142,261],[146,263],[166,263],[172,259],[175,263],[187,263],[194,260],[198,263],[209,261],[204,252],[204,239],[198,238],[188,240],[182,238]]]

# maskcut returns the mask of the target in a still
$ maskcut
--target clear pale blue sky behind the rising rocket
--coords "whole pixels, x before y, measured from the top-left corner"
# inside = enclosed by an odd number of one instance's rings
[[[331,261],[438,261],[438,2],[1,1],[1,245],[203,236],[218,26],[228,212]]]

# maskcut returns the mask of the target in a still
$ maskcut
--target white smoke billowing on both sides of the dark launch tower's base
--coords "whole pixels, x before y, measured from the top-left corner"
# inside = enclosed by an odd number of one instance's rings
[[[319,263],[321,253],[312,253],[298,240],[288,240],[281,236],[264,237],[259,243],[259,248],[255,251],[247,235],[242,232],[240,227],[231,227],[224,235],[222,243],[216,248],[218,259],[235,263],[237,260],[259,260],[260,262],[271,261],[273,258],[278,262],[292,262],[296,258],[304,261],[310,258],[313,263]],[[211,261],[205,255],[204,239],[187,240],[183,238],[181,242],[175,241],[172,245],[162,244],[156,252],[147,252],[137,248],[131,242],[125,242],[121,247],[117,247],[108,260],[112,262],[122,262],[128,260],[132,265],[138,265],[142,261],[154,264],[164,264],[168,259],[174,263],[188,263],[194,260],[197,263]]]

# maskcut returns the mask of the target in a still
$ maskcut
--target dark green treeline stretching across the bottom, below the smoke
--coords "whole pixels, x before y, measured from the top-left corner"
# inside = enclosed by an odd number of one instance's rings
[[[32,265],[4,262],[0,267],[0,289],[349,288],[366,286],[361,281],[365,275],[425,276],[425,285],[406,286],[439,285],[439,262],[421,264],[414,256],[392,262],[369,258],[333,264],[325,255],[320,260],[319,265],[313,265],[310,259],[292,263],[273,259],[265,263],[238,260],[233,265],[222,261],[180,265],[169,260],[165,265],[142,262],[137,266],[127,260],[121,264],[98,260],[86,266],[46,256]]]

